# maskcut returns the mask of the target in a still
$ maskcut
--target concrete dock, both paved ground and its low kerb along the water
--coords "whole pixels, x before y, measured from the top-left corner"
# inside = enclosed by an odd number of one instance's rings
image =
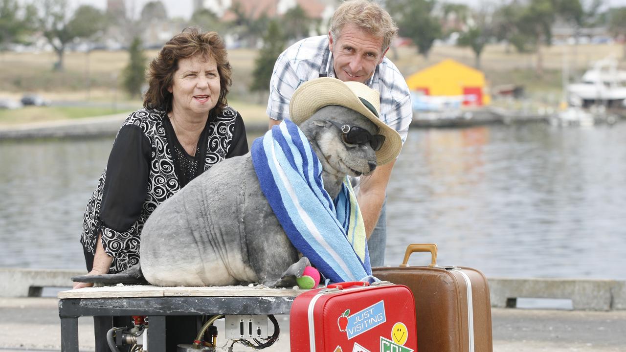
[[[80,274],[0,268],[0,351],[60,351],[58,299],[28,296],[56,296],[51,287],[71,286],[69,277]],[[626,352],[625,281],[490,278],[489,284],[495,352]],[[528,298],[535,308],[561,309],[522,309]],[[280,339],[265,351],[289,351],[289,318],[278,320]],[[93,320],[78,322],[80,350],[93,351]],[[223,331],[223,319],[216,324]],[[236,344],[233,351],[252,349]]]

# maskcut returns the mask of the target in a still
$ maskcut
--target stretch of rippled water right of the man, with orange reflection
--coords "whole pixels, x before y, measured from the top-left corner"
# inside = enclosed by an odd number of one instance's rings
[[[624,123],[411,132],[389,185],[386,263],[405,243],[434,242],[439,263],[492,277],[625,279],[625,133]]]

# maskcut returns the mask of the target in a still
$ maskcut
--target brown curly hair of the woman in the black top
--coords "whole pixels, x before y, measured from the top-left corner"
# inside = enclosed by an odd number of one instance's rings
[[[148,91],[143,97],[146,109],[172,111],[172,93],[168,91],[173,84],[174,73],[178,70],[178,60],[192,56],[212,57],[217,62],[220,75],[220,97],[217,111],[221,112],[228,104],[226,95],[232,84],[232,69],[228,63],[226,46],[216,32],[200,33],[195,28],[185,28],[182,33],[170,39],[159,51],[148,68]]]

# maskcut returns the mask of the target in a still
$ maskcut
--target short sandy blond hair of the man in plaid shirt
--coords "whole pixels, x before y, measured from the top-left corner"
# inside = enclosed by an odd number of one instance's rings
[[[334,40],[339,39],[346,24],[354,24],[362,31],[382,38],[382,51],[389,48],[398,34],[398,27],[389,13],[369,0],[350,0],[337,8],[331,18],[331,35]]]

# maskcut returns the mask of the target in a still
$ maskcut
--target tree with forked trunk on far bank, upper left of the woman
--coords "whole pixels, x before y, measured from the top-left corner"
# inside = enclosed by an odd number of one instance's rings
[[[66,46],[76,38],[90,38],[104,28],[103,14],[93,6],[83,5],[68,19],[67,0],[42,0],[38,26],[58,56],[55,70],[63,71]]]

